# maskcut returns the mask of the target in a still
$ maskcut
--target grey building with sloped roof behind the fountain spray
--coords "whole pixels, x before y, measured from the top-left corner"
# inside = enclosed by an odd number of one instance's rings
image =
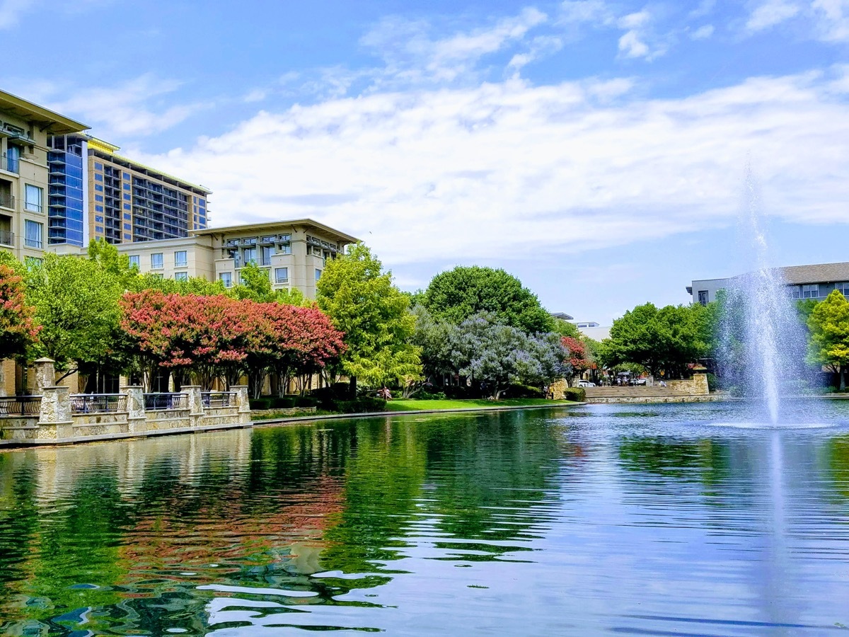
[[[834,290],[849,296],[849,262],[820,263],[817,265],[788,266],[776,268],[784,279],[787,295],[793,299],[822,300]],[[726,279],[699,279],[687,286],[693,302],[707,305],[717,300],[719,290],[739,287],[744,274]]]

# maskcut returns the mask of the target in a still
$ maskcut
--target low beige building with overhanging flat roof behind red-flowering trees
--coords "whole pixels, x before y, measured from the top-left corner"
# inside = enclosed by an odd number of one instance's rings
[[[248,262],[266,269],[273,290],[300,290],[315,298],[324,263],[356,243],[350,234],[312,219],[252,223],[228,228],[193,230],[187,238],[119,244],[117,248],[142,273],[166,279],[202,277],[239,283]]]

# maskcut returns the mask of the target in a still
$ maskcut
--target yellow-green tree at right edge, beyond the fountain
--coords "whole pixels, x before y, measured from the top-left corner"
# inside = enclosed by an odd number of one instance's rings
[[[841,392],[846,391],[846,364],[849,364],[849,301],[834,290],[812,308],[807,318],[808,361],[812,364],[835,365],[841,379]]]

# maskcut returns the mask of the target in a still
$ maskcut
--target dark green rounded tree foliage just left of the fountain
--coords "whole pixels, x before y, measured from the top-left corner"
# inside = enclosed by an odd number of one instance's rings
[[[684,375],[687,364],[710,352],[712,328],[711,311],[698,303],[660,309],[646,303],[613,322],[602,356],[608,367],[632,363],[655,376]]]

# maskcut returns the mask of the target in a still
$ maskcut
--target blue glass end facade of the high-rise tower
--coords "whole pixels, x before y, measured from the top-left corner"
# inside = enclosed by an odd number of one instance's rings
[[[82,246],[82,138],[48,139],[48,243]]]

